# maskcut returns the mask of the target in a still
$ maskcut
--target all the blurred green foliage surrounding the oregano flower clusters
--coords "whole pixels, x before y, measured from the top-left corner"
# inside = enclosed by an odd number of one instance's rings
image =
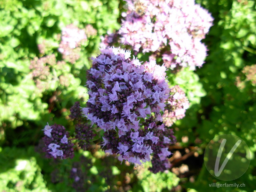
[[[243,72],[246,66],[256,64],[256,4],[253,0],[196,2],[208,9],[215,20],[204,40],[209,51],[203,67],[196,71],[183,69],[175,75],[167,72],[169,84],[179,84],[191,103],[186,117],[172,127],[177,145],[182,149],[196,148],[197,153],[182,162],[188,165],[187,174],[176,176],[171,170],[153,174],[148,171],[150,164],[134,170],[106,156],[98,145],[85,152],[76,149],[73,160],[49,160],[40,154],[41,129],[47,122],[67,126],[73,133],[68,109],[76,100],[86,99],[84,84],[86,70],[91,65],[89,58],[98,53],[100,36],[120,27],[118,22],[125,3],[0,0],[0,191],[249,192],[256,189],[256,88],[248,80],[248,73]],[[56,61],[62,61],[57,51],[61,29],[71,23],[81,29],[91,24],[97,35],[88,37],[75,64],[64,60],[63,68],[49,65],[55,81],[49,89],[39,90],[30,76],[30,63],[36,57],[52,54]],[[40,53],[38,45],[44,42],[47,47]],[[60,76],[68,79],[68,86],[60,83]],[[234,181],[216,180],[203,162],[205,147],[221,134],[240,137],[251,151],[248,170]],[[70,176],[74,167],[83,175],[80,183]],[[213,182],[244,183],[245,187],[209,187]]]

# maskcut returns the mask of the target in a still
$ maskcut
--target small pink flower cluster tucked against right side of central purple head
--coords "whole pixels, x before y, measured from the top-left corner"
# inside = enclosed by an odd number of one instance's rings
[[[171,88],[170,96],[166,100],[166,107],[163,115],[165,126],[170,127],[178,119],[185,116],[186,109],[189,107],[189,101],[179,85]]]

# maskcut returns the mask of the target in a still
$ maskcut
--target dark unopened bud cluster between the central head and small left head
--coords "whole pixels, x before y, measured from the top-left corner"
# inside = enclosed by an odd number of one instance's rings
[[[86,150],[91,146],[90,140],[92,140],[96,136],[96,134],[93,133],[91,126],[87,124],[87,122],[82,117],[79,101],[77,101],[70,108],[69,117],[77,120],[77,124],[75,127],[75,137],[78,140],[78,146]]]

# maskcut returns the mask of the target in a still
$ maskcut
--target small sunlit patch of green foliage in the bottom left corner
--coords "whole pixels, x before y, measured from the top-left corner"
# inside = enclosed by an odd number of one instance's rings
[[[34,153],[33,147],[28,148],[27,152],[25,149],[9,147],[1,151],[0,191],[49,191]]]

